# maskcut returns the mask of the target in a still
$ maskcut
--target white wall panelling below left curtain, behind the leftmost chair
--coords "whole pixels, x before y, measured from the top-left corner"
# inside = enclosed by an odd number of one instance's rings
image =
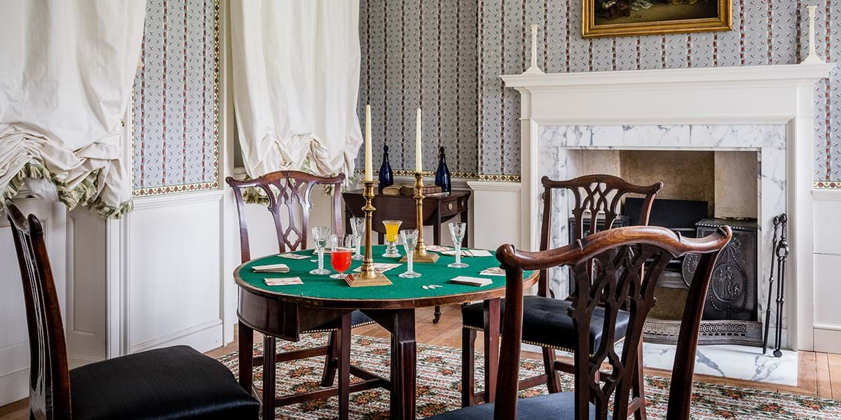
[[[17,201],[22,212],[34,213],[45,229],[56,291],[62,307],[66,299],[65,229],[63,204],[26,199]],[[12,229],[6,214],[0,212],[0,406],[28,396],[29,337],[26,332],[24,289],[20,280],[18,257],[12,242]]]

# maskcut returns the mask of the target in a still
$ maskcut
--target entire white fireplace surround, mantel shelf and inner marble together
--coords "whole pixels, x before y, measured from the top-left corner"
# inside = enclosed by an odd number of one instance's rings
[[[786,278],[785,345],[813,349],[812,104],[815,83],[828,77],[833,66],[501,76],[506,87],[521,93],[521,244],[537,249],[540,177],[545,166],[541,160],[552,153],[542,150],[543,144],[554,144],[556,150],[563,149],[562,144],[581,148],[590,142],[605,148],[757,150],[763,174],[759,188],[763,236],[770,234],[768,218],[782,211],[789,216],[792,252]],[[780,140],[783,134],[785,143]],[[785,185],[774,180],[784,180]],[[766,249],[770,244],[763,244],[760,251]],[[763,266],[763,273],[766,270]],[[767,293],[763,281],[760,296]]]

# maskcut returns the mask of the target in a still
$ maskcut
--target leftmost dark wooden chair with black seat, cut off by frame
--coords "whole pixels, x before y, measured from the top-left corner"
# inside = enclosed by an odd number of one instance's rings
[[[260,404],[219,361],[188,346],[130,354],[70,370],[56,285],[40,220],[4,203],[24,284],[29,418],[253,418]]]

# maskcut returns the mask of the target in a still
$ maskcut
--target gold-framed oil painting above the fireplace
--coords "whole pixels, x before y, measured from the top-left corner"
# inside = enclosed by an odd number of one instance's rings
[[[733,0],[581,0],[581,33],[680,34],[733,29]]]

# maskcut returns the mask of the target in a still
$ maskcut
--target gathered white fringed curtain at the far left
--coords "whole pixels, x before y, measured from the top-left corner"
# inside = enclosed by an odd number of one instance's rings
[[[121,118],[140,60],[143,0],[0,0],[0,194],[130,209]]]

